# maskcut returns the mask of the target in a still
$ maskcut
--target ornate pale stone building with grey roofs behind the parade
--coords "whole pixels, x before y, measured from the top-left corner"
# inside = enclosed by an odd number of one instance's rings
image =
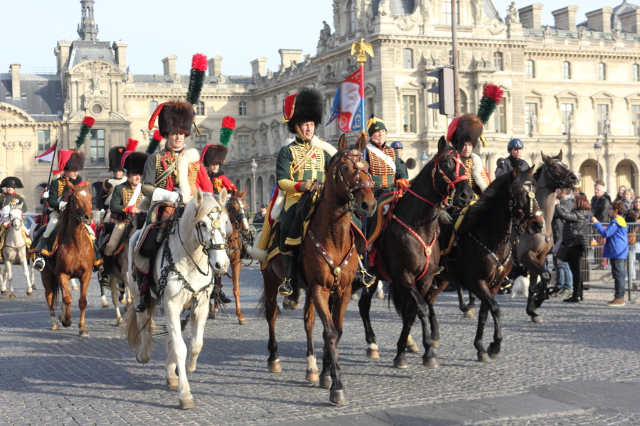
[[[329,1],[329,0],[327,0]],[[93,0],[82,0],[80,38],[55,48],[55,75],[26,75],[19,65],[0,74],[1,175],[24,178],[36,200],[46,183],[48,163],[33,157],[59,136],[68,147],[90,114],[96,124],[85,143],[84,175],[107,176],[106,153],[128,137],[145,141],[156,105],[186,94],[188,75],[176,73],[176,56],[162,60],[160,75],[127,72],[127,43],[97,40]],[[253,186],[252,205],[267,202],[274,185],[278,149],[289,138],[282,101],[300,87],[314,86],[326,96],[328,112],[338,84],[358,66],[351,43],[366,38],[375,57],[366,64],[366,109],[383,117],[388,140],[402,141],[404,158],[415,158],[415,175],[436,151],[450,117],[427,105],[437,95],[427,73],[451,62],[451,9],[444,0],[334,0],[334,30],[322,23],[316,55],[279,50],[277,70],[266,59],[251,62],[251,75],[228,76],[223,58],[209,62],[209,75],[196,106],[203,136],[190,146],[215,143],[223,116],[238,128],[230,143],[226,173],[239,187]],[[576,23],[577,6],[552,11],[555,26],[541,26],[542,4],[508,7],[501,18],[491,0],[458,1],[459,81],[462,111],[475,111],[484,87],[500,84],[505,99],[486,126],[488,148],[479,148],[491,175],[507,155],[506,143],[523,139],[525,158],[540,162],[540,151],[556,154],[583,177],[585,192],[604,178],[607,190],[640,188],[640,8],[624,2],[587,13]],[[205,52],[207,53],[207,52]],[[215,53],[215,52],[214,52]],[[5,92],[3,98],[2,92]],[[319,135],[336,142],[335,124]],[[355,136],[355,135],[354,135]],[[594,149],[594,143],[602,149]],[[599,165],[599,167],[597,166]],[[33,205],[33,202],[30,202]]]

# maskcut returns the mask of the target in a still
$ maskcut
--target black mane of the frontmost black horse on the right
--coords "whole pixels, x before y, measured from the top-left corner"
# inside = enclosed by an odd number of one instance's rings
[[[500,209],[498,204],[504,197],[508,197],[509,188],[516,189],[522,187],[526,182],[531,182],[533,187],[538,186],[538,181],[529,175],[529,173],[520,170],[518,176],[513,181],[509,180],[511,173],[505,173],[498,176],[491,185],[486,188],[480,200],[469,207],[469,211],[466,213],[462,226],[464,229],[478,229],[486,226],[487,222],[491,222],[493,219],[486,217],[487,215],[494,215],[496,210]],[[535,191],[535,190],[534,190]]]

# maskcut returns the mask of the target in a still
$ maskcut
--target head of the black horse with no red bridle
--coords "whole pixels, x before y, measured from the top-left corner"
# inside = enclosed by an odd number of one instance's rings
[[[533,178],[533,167],[523,171],[514,168],[509,173],[509,199],[508,208],[513,217],[520,222],[520,227],[533,235],[542,232],[545,219],[540,210],[538,201],[535,200],[535,190],[538,184]]]

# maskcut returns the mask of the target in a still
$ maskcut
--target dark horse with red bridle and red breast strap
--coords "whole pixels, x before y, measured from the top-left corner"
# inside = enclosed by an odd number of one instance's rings
[[[466,207],[473,198],[467,173],[459,153],[446,144],[444,137],[440,138],[437,154],[412,180],[407,192],[397,199],[393,210],[387,213],[388,226],[373,242],[378,253],[374,258],[378,279],[383,275],[385,280],[390,281],[390,288],[404,297],[402,333],[398,341],[398,354],[393,361],[396,368],[407,366],[404,351],[416,315],[422,322],[422,344],[425,346],[422,364],[427,368],[439,367],[433,349],[434,342],[427,332],[429,309],[422,297],[438,267],[437,217],[449,204],[453,203],[458,208]],[[358,302],[370,359],[380,358],[369,317],[375,288],[372,285],[363,291]],[[417,346],[414,350],[417,351]]]

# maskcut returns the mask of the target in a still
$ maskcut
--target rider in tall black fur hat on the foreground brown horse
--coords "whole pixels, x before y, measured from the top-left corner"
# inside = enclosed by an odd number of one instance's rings
[[[322,121],[322,95],[316,89],[305,87],[297,94],[284,99],[284,119],[295,140],[280,148],[276,160],[276,180],[284,197],[284,212],[280,223],[280,258],[284,268],[284,280],[278,291],[291,295],[297,278],[297,248],[302,242],[302,229],[292,228],[296,207],[304,192],[324,183],[326,168],[336,148],[315,136]],[[268,233],[267,233],[268,234]],[[265,233],[262,239],[265,238]],[[269,235],[266,236],[269,238]]]

